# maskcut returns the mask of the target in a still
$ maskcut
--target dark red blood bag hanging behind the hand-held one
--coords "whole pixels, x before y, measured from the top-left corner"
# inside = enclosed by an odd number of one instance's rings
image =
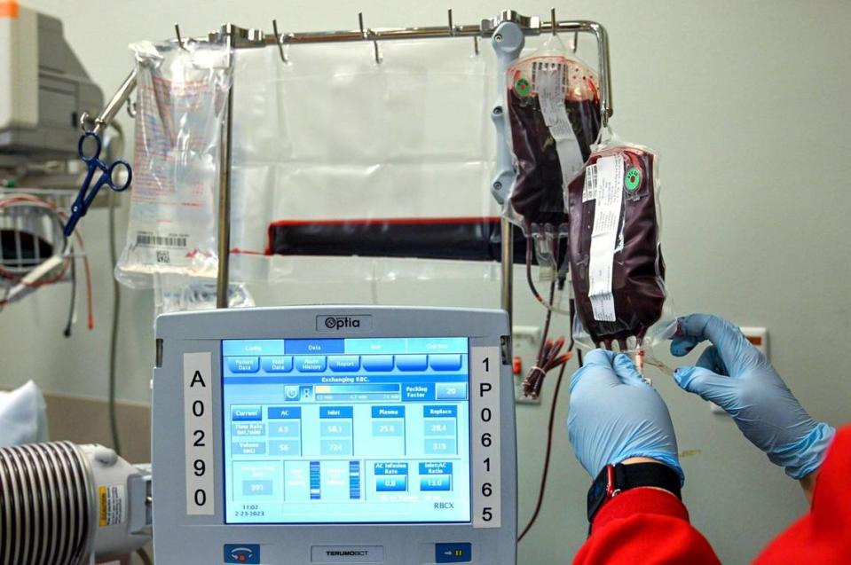
[[[530,57],[508,67],[508,127],[516,182],[506,216],[530,235],[567,222],[563,188],[582,169],[600,132],[595,72],[568,57],[554,35]]]

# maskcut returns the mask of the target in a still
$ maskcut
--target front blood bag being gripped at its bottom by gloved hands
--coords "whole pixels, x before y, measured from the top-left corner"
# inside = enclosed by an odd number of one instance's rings
[[[658,156],[612,140],[568,185],[574,334],[588,347],[639,349],[676,329],[659,245]]]

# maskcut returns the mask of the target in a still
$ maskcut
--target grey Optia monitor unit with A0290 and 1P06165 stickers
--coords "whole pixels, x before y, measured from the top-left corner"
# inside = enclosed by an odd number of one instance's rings
[[[508,316],[303,307],[157,320],[162,563],[515,563]]]

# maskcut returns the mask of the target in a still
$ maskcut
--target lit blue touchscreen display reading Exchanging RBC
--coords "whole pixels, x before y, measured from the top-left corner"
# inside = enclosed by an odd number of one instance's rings
[[[222,341],[225,522],[469,522],[467,338]]]

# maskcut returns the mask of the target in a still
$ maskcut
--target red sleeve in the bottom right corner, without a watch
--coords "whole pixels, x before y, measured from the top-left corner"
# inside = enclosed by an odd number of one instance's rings
[[[773,563],[851,563],[851,426],[839,430],[816,479],[809,513],[757,557]]]

